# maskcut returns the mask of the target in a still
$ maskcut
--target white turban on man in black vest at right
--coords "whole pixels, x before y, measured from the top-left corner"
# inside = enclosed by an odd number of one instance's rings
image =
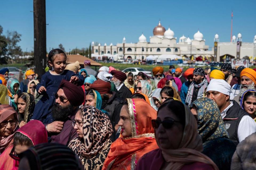
[[[225,80],[222,79],[211,79],[209,85],[207,86],[207,91],[218,91],[222,94],[230,96],[231,86]]]

